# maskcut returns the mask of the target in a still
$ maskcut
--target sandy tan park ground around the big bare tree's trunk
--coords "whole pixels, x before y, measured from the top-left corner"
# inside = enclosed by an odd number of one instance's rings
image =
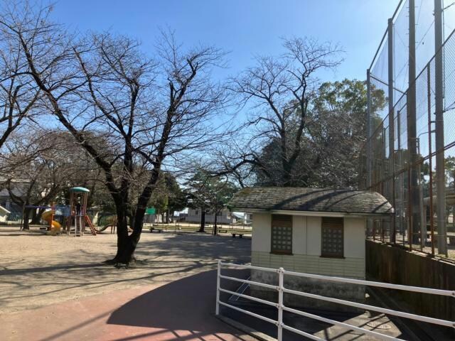
[[[116,269],[114,234],[47,236],[0,227],[0,314],[41,308],[84,296],[144,285],[159,286],[215,269],[217,259],[250,261],[250,239],[144,230],[139,264]]]

